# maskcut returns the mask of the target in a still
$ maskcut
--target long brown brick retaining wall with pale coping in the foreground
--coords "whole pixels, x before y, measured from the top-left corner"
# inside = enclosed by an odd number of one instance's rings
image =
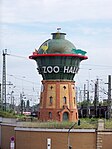
[[[47,149],[47,138],[51,139],[52,149],[67,149],[68,144],[67,129],[22,128],[2,123],[0,134],[1,149],[10,149],[12,136],[15,149]],[[112,130],[72,129],[69,137],[73,149],[112,149]]]

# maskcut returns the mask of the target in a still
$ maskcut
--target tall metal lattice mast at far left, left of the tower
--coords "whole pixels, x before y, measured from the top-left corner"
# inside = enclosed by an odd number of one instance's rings
[[[3,51],[2,102],[1,102],[3,110],[6,110],[6,55],[7,55],[7,49]]]

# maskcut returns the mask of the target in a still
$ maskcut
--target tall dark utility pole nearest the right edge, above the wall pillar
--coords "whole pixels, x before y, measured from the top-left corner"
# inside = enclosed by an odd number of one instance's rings
[[[108,75],[108,118],[111,118],[112,113],[112,100],[111,100],[111,75]]]

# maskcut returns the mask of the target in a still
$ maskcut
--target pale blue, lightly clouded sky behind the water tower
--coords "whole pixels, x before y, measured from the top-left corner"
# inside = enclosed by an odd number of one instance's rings
[[[7,56],[7,74],[22,79],[25,76],[35,82],[33,85],[37,83],[35,87],[39,90],[41,77],[28,56],[51,38],[57,27],[66,32],[66,39],[76,48],[87,51],[89,59],[81,63],[75,78],[77,86],[82,88],[88,78],[107,81],[107,75],[112,74],[111,0],[1,0],[0,7],[0,67],[3,49],[26,57]],[[7,79],[21,86],[18,79]]]

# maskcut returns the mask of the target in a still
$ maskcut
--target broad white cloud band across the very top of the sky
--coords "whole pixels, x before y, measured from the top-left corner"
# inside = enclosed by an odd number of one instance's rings
[[[2,22],[112,19],[111,0],[2,0]]]

